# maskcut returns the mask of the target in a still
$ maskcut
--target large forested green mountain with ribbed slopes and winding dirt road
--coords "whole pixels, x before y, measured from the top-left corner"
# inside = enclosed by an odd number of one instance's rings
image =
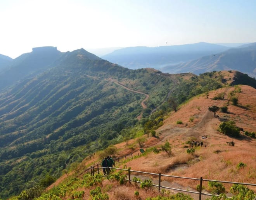
[[[150,134],[196,95],[240,80],[256,83],[235,71],[197,76],[133,70],[85,49],[36,48],[14,67],[30,75],[16,75],[19,82],[0,93],[0,198],[48,186],[95,151]]]

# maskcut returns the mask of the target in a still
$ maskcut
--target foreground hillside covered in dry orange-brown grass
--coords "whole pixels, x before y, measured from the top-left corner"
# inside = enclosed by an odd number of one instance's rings
[[[238,98],[238,104],[232,105],[230,95],[235,92]],[[224,99],[214,100],[220,93],[224,93]],[[218,117],[214,117],[213,113],[208,110],[208,107],[216,105],[218,107],[227,106],[228,112],[217,112]],[[236,87],[224,87],[218,90],[209,92],[208,98],[205,95],[193,97],[178,108],[177,112],[171,112],[164,119],[163,126],[156,130],[156,136],[145,136],[145,144],[143,149],[145,153],[139,153],[141,148],[136,139],[131,139],[127,142],[121,142],[115,146],[118,149],[116,157],[121,157],[130,153],[140,156],[134,156],[133,159],[128,159],[125,163],[118,165],[118,168],[131,168],[136,171],[147,171],[151,173],[162,173],[166,175],[183,176],[191,178],[200,178],[210,180],[223,180],[244,183],[256,182],[255,171],[255,137],[246,136],[247,132],[256,132],[256,90],[250,86],[239,85]],[[192,120],[193,119],[193,120]],[[177,124],[177,120],[182,121],[182,124]],[[233,120],[235,124],[243,131],[240,131],[240,137],[229,137],[220,131],[218,127],[223,120]],[[202,136],[207,136],[202,139]],[[203,141],[201,147],[194,147],[194,153],[187,153],[187,148],[190,146],[189,141]],[[171,156],[165,152],[158,154],[153,152],[153,147],[159,148],[166,141],[171,144]],[[227,144],[229,141],[234,141],[235,146]],[[95,180],[101,180],[101,184],[95,183],[89,186],[90,181],[84,172],[86,167],[90,167],[101,161],[100,154],[95,154],[92,157],[86,157],[81,166],[78,166],[78,171],[75,169],[67,176],[63,175],[57,180],[47,191],[42,195],[42,199],[47,199],[50,194],[55,194],[60,199],[72,198],[72,195],[83,194],[84,199],[91,199],[90,191],[97,186],[101,187],[101,193],[109,197],[110,200],[115,199],[137,199],[134,192],[139,192],[140,199],[147,197],[157,197],[159,193],[156,190],[145,190],[132,183],[122,183],[115,179],[108,180],[100,176],[96,176]],[[138,164],[139,163],[139,164]],[[239,163],[245,164],[239,168]],[[113,172],[114,174],[116,172]],[[122,175],[125,175],[123,173]],[[140,175],[135,175],[140,177]],[[154,176],[145,175],[147,179],[154,180]],[[121,176],[120,176],[121,177]],[[113,177],[112,177],[113,178]],[[83,181],[84,180],[84,181]],[[85,181],[86,180],[86,181]],[[190,186],[196,189],[197,182],[194,180],[181,180],[175,178],[163,178],[172,184],[179,185],[183,189]],[[121,185],[120,185],[121,184]],[[226,192],[230,191],[232,185],[223,183]],[[53,187],[55,186],[55,188]],[[209,186],[203,185],[205,190],[209,191]],[[251,190],[256,192],[256,188],[249,186]],[[66,191],[65,195],[61,195],[60,191]],[[58,192],[59,191],[59,192]],[[171,193],[161,193],[166,198]],[[48,196],[47,196],[48,195]],[[185,194],[187,195],[187,194]],[[189,199],[189,197],[182,199]],[[44,198],[43,198],[44,197]],[[78,198],[80,199],[80,198]],[[174,199],[170,198],[170,199]],[[178,199],[178,198],[177,198]],[[206,199],[203,197],[202,199]],[[236,199],[236,198],[234,198]]]

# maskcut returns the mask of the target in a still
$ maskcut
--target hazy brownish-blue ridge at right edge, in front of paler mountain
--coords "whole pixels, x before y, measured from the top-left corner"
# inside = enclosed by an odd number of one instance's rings
[[[228,49],[222,53],[204,56],[187,63],[161,68],[168,73],[191,72],[195,74],[208,71],[236,70],[256,77],[256,42]]]

